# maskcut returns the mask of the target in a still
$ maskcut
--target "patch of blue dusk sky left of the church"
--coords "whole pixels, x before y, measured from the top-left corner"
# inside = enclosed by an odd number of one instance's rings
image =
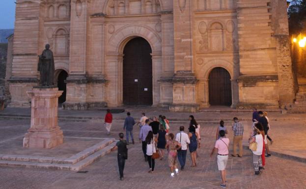
[[[16,0],[0,0],[0,29],[12,29],[15,22]]]

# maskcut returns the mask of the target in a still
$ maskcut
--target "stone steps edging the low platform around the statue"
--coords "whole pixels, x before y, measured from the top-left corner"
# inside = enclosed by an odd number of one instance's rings
[[[114,139],[105,139],[70,158],[0,155],[0,166],[79,171],[110,153],[114,145]]]

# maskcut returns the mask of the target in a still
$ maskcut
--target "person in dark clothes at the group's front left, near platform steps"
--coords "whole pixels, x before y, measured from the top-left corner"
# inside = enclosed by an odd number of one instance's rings
[[[123,140],[123,133],[119,133],[119,141],[116,143],[116,145],[111,148],[111,151],[114,151],[118,149],[117,153],[117,159],[118,159],[118,167],[119,167],[119,174],[120,174],[120,180],[123,180],[123,170],[125,165],[125,160],[128,157],[128,149],[126,147],[126,140]]]

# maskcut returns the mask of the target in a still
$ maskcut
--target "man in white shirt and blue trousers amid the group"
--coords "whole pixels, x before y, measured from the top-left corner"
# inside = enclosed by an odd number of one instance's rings
[[[187,155],[187,144],[190,144],[190,139],[187,133],[184,132],[184,126],[180,127],[180,132],[176,134],[175,140],[181,144],[181,149],[177,150],[177,159],[181,164],[181,170],[184,170]]]

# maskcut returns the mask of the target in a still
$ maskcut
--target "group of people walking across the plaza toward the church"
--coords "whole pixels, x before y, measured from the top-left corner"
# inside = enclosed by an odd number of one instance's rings
[[[131,113],[127,112],[127,117],[125,118],[123,129],[126,131],[126,140],[123,138],[123,133],[119,134],[119,142],[112,149],[118,149],[118,166],[120,173],[120,180],[123,179],[123,169],[124,162],[127,159],[127,148],[126,145],[130,143],[135,144],[133,136],[133,128],[135,126],[140,127],[139,132],[139,142],[142,144],[142,152],[144,161],[148,162],[149,173],[154,172],[155,160],[164,160],[165,150],[167,149],[167,160],[170,169],[170,176],[174,177],[179,174],[179,168],[177,160],[180,164],[180,170],[185,169],[187,151],[189,149],[192,161],[192,167],[197,166],[197,148],[200,148],[201,137],[200,137],[200,125],[195,121],[193,115],[189,116],[190,124],[188,128],[188,133],[185,133],[185,127],[180,126],[179,132],[174,135],[169,133],[169,121],[166,116],[159,115],[159,117],[146,117],[145,113],[139,122],[136,122]],[[269,119],[266,112],[257,111],[254,108],[252,115],[252,132],[249,138],[250,149],[253,153],[253,165],[255,174],[260,174],[265,166],[265,157],[270,157],[270,151],[267,144],[268,130],[270,129]],[[232,124],[233,131],[233,153],[232,157],[243,157],[243,134],[244,126],[242,122],[239,121],[237,117],[233,118]],[[217,164],[218,169],[221,172],[222,188],[226,187],[226,164],[229,155],[229,138],[226,137],[228,130],[224,125],[224,121],[220,121],[220,125],[216,132],[216,142],[214,148],[211,152],[211,157],[217,151]],[[129,138],[131,137],[131,140]],[[131,142],[130,142],[131,141]],[[271,144],[273,140],[271,139]],[[239,146],[239,151],[237,152],[237,146]],[[253,146],[256,146],[255,148]],[[265,156],[265,150],[267,150],[267,155]],[[125,155],[126,152],[126,155]]]

